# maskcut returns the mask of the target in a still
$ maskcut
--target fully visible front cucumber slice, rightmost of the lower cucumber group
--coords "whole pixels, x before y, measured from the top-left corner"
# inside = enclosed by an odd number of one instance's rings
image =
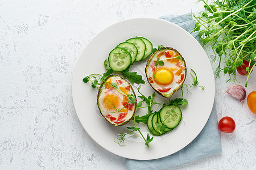
[[[181,121],[182,113],[179,107],[175,105],[167,105],[162,108],[159,113],[160,121],[163,122],[167,128],[173,129]]]

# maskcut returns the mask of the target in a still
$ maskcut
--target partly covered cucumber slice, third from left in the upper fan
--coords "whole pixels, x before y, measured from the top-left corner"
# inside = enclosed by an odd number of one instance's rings
[[[133,43],[137,47],[138,54],[137,54],[137,58],[135,59],[135,61],[141,61],[145,54],[145,50],[146,50],[145,42],[142,39],[139,39],[137,37],[126,40],[126,42]]]

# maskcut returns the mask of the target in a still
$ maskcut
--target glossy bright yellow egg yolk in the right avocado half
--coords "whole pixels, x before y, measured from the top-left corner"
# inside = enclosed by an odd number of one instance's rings
[[[160,67],[156,69],[154,79],[157,84],[166,86],[174,80],[174,73],[166,67]]]

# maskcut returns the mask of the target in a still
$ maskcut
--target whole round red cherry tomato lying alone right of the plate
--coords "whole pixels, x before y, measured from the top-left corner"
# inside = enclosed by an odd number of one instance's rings
[[[225,133],[232,133],[236,129],[236,123],[231,117],[222,117],[218,122],[218,129]]]

